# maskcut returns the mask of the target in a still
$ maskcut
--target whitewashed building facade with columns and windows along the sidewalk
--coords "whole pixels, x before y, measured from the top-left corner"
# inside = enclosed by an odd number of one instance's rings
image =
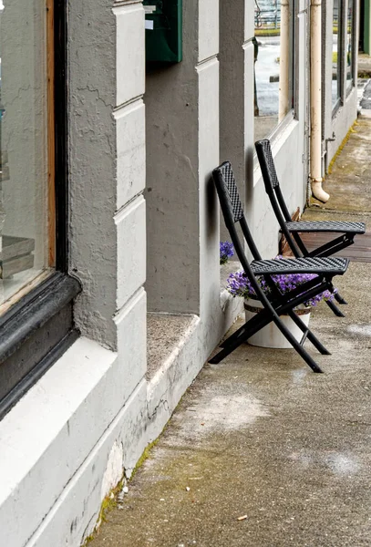
[[[0,3],[7,547],[82,544],[159,436],[241,312],[211,171],[277,254],[254,141],[303,210],[356,119],[357,28],[356,0]]]

